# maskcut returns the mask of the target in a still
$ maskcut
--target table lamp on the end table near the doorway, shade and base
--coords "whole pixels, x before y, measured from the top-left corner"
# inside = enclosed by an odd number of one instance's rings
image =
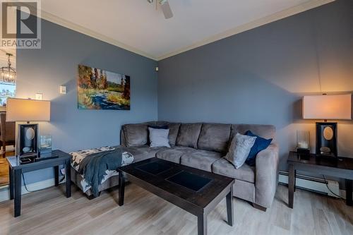
[[[30,121],[50,121],[50,101],[8,98],[6,121],[26,121],[18,125],[16,155],[18,157],[37,157],[38,124]]]

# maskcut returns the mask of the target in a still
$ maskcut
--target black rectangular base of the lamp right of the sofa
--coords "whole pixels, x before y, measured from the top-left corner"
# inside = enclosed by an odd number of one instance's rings
[[[337,157],[337,122],[316,123],[316,155]]]

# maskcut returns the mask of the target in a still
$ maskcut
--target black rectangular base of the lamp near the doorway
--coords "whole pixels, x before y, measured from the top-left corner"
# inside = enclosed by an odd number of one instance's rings
[[[19,157],[36,156],[38,153],[38,124],[20,124],[19,126]]]

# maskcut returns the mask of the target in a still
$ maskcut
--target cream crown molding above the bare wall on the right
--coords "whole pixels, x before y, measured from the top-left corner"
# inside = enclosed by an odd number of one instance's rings
[[[195,49],[197,47],[204,46],[205,44],[210,44],[212,42],[216,42],[218,40],[222,40],[226,37],[231,37],[233,35],[237,35],[241,32],[245,32],[247,30],[251,30],[253,28],[258,28],[261,25],[265,25],[271,22],[274,22],[276,20],[280,20],[282,18],[287,18],[289,16],[293,16],[297,13],[301,13],[303,11],[308,11],[311,8],[316,8],[318,6],[322,6],[325,4],[329,4],[333,1],[336,0],[313,0],[313,1],[308,1],[304,4],[300,4],[298,6],[294,6],[291,8],[287,8],[283,11],[279,11],[277,13],[273,13],[272,15],[265,16],[263,18],[259,18],[257,20],[253,20],[252,22],[246,23],[244,25],[237,26],[236,28],[232,28],[230,30],[227,30],[225,32],[221,32],[220,34],[214,35],[212,37],[208,37],[208,39],[202,40],[200,42],[196,42],[195,44],[192,44],[189,47],[184,47],[182,49],[178,49],[177,51],[170,52],[168,54],[164,54],[162,56],[157,57],[157,61],[160,61],[162,59],[167,59],[168,57],[175,56],[177,54],[181,54],[183,52],[187,52],[191,49]]]

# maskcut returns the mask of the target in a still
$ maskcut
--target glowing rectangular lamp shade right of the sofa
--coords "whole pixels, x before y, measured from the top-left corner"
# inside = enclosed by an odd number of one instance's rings
[[[303,119],[352,119],[352,95],[306,95]]]

